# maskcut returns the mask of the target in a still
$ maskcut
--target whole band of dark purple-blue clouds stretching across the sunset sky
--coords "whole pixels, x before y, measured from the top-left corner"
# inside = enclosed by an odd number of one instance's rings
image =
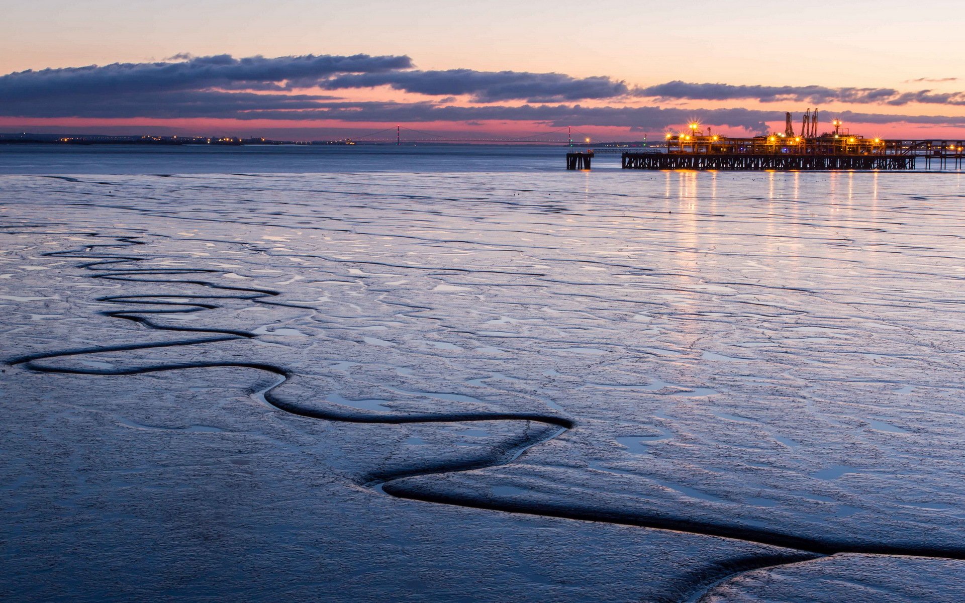
[[[924,81],[924,78],[923,78]],[[349,101],[334,93],[390,89],[435,96],[414,102]],[[375,93],[373,93],[375,94]],[[384,93],[383,93],[384,94]],[[391,93],[389,94],[391,97]],[[445,96],[445,98],[441,98]],[[234,58],[177,55],[155,63],[26,70],[0,76],[0,116],[81,119],[223,119],[344,123],[538,122],[652,131],[703,123],[765,131],[783,111],[639,106],[642,98],[793,100],[813,105],[910,103],[965,105],[965,93],[891,88],[743,86],[672,81],[631,88],[607,76],[563,73],[420,70],[404,55],[306,55]],[[590,103],[589,105],[587,103]],[[600,106],[605,105],[605,106]],[[783,109],[783,107],[782,107]],[[965,117],[843,112],[850,122],[965,126]]]

